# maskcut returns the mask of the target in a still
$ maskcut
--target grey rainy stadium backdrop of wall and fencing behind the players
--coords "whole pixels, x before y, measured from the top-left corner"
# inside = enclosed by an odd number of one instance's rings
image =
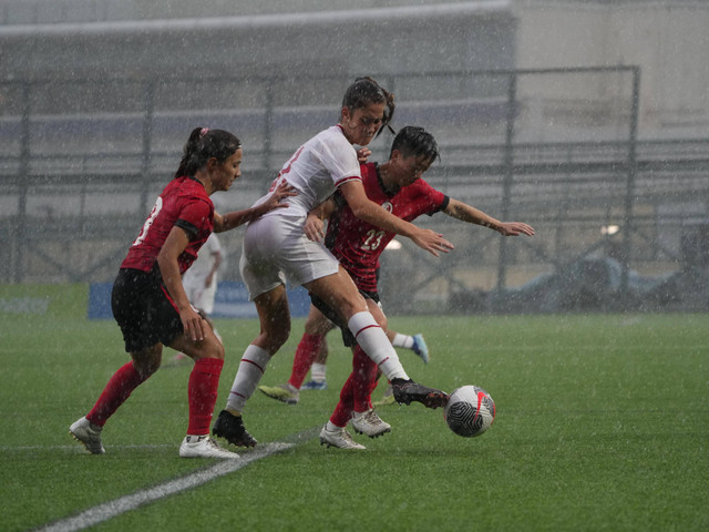
[[[434,186],[537,229],[420,221],[458,248],[388,250],[390,313],[709,306],[706,2],[167,6],[0,1],[0,284],[111,282],[196,125],[244,141],[215,203],[247,206],[372,74],[439,140]]]

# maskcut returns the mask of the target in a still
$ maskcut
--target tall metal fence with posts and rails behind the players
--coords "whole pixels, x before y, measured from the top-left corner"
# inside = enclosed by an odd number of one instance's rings
[[[423,125],[425,178],[534,238],[443,214],[434,258],[402,242],[381,291],[400,313],[706,308],[709,140],[641,135],[635,66],[381,74],[394,126]],[[288,156],[336,123],[351,78],[0,82],[0,283],[112,280],[198,125],[244,142],[222,211],[260,196]],[[391,135],[370,146],[388,156]],[[237,280],[240,229],[225,235]]]

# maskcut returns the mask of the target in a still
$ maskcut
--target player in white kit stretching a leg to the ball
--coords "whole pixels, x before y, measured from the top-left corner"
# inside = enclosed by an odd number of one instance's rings
[[[445,392],[409,378],[350,276],[322,243],[308,239],[304,233],[308,212],[338,190],[357,217],[407,236],[435,256],[453,248],[439,233],[393,216],[364,193],[352,144],[369,144],[380,127],[389,123],[393,109],[393,96],[374,80],[356,80],[342,100],[339,123],[300,146],[274,182],[274,187],[288,183],[298,192],[297,196],[286,200],[290,208],[273,211],[248,224],[240,272],[249,298],[256,304],[261,330],[242,357],[226,408],[214,423],[215,436],[235,446],[256,444],[244,428],[242,410],[256,390],[270,357],[290,335],[286,277],[338,313],[364,352],[392,382],[399,402],[419,401],[429,408],[445,405]]]

